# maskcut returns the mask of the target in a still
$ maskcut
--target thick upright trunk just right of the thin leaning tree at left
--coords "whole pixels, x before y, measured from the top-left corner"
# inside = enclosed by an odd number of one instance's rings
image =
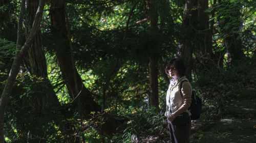
[[[37,11],[38,1],[34,0],[27,0],[27,7],[26,11],[28,12],[28,23],[26,24],[27,31],[31,30],[33,19],[35,17],[35,12]],[[42,77],[42,82],[35,83],[33,86],[42,86],[44,89],[41,90],[41,92],[44,92],[45,94],[42,96],[35,96],[33,100],[33,110],[34,114],[34,124],[37,125],[37,127],[29,126],[27,125],[27,131],[30,132],[30,138],[28,138],[28,141],[32,142],[42,142],[46,140],[41,140],[40,138],[33,138],[33,136],[44,136],[42,132],[38,132],[38,128],[42,128],[40,121],[45,122],[51,122],[51,118],[46,116],[46,113],[51,113],[54,115],[56,110],[53,109],[61,109],[61,105],[58,101],[57,96],[55,95],[55,92],[52,88],[52,85],[48,79],[47,75],[47,64],[46,64],[46,58],[45,58],[45,51],[42,46],[42,40],[41,40],[41,32],[39,31],[40,28],[38,28],[38,31],[36,32],[34,39],[32,40],[30,44],[30,48],[25,55],[23,61],[26,69],[30,72],[31,75],[35,75],[36,77]],[[28,38],[28,35],[26,36]],[[30,108],[29,106],[27,108]],[[26,107],[25,107],[26,109]],[[60,116],[57,114],[56,119],[59,119]],[[17,118],[18,120],[18,118]],[[58,124],[58,122],[55,122]],[[60,127],[61,129],[61,127]],[[61,130],[61,132],[63,132]],[[33,138],[33,139],[32,139]]]

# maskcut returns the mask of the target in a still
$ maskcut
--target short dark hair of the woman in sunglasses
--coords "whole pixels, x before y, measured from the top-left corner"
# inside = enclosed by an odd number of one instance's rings
[[[169,67],[170,65],[174,65],[174,67],[177,69],[177,74],[178,74],[180,77],[185,76],[186,67],[185,67],[185,64],[184,64],[184,62],[183,62],[182,59],[174,58],[174,59],[170,60],[170,61],[168,62],[168,64],[166,65],[166,67],[165,67],[165,73],[166,73],[166,74],[169,74],[167,69],[168,69],[168,67]]]

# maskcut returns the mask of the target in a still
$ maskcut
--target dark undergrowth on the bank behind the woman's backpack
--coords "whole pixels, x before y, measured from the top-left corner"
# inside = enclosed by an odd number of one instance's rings
[[[211,68],[198,73],[194,87],[202,98],[200,121],[220,119],[225,105],[239,96],[241,89],[248,85],[251,61],[237,62],[236,66]]]

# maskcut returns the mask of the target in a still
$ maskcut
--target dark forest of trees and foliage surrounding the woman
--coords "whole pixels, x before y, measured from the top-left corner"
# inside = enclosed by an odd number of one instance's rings
[[[255,20],[253,0],[0,0],[0,142],[143,142],[176,57],[220,119],[253,82]]]

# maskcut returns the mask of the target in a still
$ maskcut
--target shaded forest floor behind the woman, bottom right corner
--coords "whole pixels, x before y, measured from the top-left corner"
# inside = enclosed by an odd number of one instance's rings
[[[247,73],[248,85],[225,101],[220,119],[194,123],[191,142],[256,143],[256,65]]]

